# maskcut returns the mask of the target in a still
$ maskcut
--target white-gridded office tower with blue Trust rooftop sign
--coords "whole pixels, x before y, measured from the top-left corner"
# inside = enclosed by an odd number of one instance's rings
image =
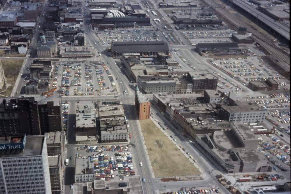
[[[0,137],[0,193],[52,193],[45,136]]]

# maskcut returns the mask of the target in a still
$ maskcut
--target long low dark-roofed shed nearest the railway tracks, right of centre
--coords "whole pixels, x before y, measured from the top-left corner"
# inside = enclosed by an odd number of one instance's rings
[[[236,54],[246,50],[247,48],[240,47],[236,42],[198,43],[196,45],[196,51],[200,55],[203,55],[203,53]]]

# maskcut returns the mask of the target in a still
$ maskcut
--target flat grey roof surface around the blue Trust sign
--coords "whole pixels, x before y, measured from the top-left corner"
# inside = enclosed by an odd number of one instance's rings
[[[8,157],[27,157],[27,156],[40,156],[42,155],[43,140],[45,136],[26,136],[25,148],[22,153],[0,155],[1,158]]]

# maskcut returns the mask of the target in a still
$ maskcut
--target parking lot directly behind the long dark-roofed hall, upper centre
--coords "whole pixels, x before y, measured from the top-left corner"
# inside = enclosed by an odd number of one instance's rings
[[[110,45],[111,41],[153,41],[155,30],[144,28],[119,28],[114,30],[97,31],[95,34],[103,45]]]

